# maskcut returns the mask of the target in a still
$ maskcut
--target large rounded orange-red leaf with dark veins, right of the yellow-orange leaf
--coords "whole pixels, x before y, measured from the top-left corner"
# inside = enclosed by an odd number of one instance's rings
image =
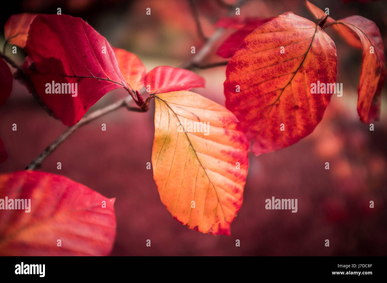
[[[240,120],[256,155],[276,151],[319,124],[332,93],[312,94],[312,84],[336,83],[336,76],[332,39],[288,12],[249,34],[229,61],[226,108]]]

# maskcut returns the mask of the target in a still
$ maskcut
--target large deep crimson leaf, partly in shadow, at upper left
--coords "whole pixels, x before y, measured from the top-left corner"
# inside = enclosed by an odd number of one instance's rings
[[[65,125],[77,123],[111,90],[128,88],[110,44],[80,18],[38,15],[25,50],[33,61],[26,72],[36,92]],[[77,93],[46,93],[46,84],[52,81],[71,83],[74,91],[77,83]]]

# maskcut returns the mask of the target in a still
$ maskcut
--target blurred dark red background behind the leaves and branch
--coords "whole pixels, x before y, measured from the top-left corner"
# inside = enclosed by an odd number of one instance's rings
[[[205,36],[227,14],[234,0],[194,0]],[[330,16],[362,15],[380,28],[387,46],[385,1],[312,0]],[[226,5],[225,5],[226,4]],[[185,0],[70,0],[11,1],[0,10],[3,26],[12,14],[33,12],[82,17],[112,46],[137,54],[147,71],[160,65],[178,67],[198,52],[198,36],[190,5]],[[146,8],[151,15],[146,15]],[[286,11],[315,20],[303,0],[250,0],[240,17],[270,17]],[[225,32],[223,39],[235,30]],[[357,114],[361,50],[349,47],[331,28],[326,32],[337,47],[337,83],[342,97],[333,95],[324,119],[310,136],[270,154],[250,154],[244,200],[231,224],[231,237],[189,230],[174,220],[161,203],[151,162],[154,102],[146,113],[122,108],[85,125],[67,139],[40,168],[67,176],[106,197],[116,197],[117,236],[111,255],[386,255],[387,254],[387,97],[382,93],[381,119],[375,130]],[[3,31],[0,44],[3,45]],[[224,61],[216,48],[204,63]],[[8,46],[7,53],[10,54]],[[18,49],[20,50],[20,49]],[[12,58],[21,63],[23,54]],[[225,66],[194,71],[206,87],[194,89],[224,105]],[[1,86],[0,86],[1,87]],[[106,94],[89,112],[125,95]],[[12,131],[12,124],[17,131]],[[101,124],[106,124],[106,132]],[[0,108],[0,137],[9,158],[0,173],[24,169],[66,127],[48,116],[24,86],[14,81],[12,93]],[[62,170],[57,170],[57,162]],[[325,162],[330,169],[325,170]],[[297,198],[298,212],[265,210],[265,199]],[[369,208],[370,201],[375,208]],[[151,247],[146,240],[151,239]],[[240,247],[235,240],[240,239]],[[330,246],[325,247],[325,239]]]

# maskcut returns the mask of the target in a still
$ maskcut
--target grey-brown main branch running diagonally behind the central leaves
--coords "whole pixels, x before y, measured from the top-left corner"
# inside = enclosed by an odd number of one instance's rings
[[[240,7],[245,3],[247,0],[240,0],[236,5],[233,6],[233,8],[230,10],[229,15],[231,15],[233,12],[235,12],[236,7]],[[205,42],[204,46],[200,51],[195,54],[195,56],[185,64],[182,68],[189,69],[189,68],[199,68],[197,66],[202,66],[200,63],[204,60],[204,58],[210,53],[212,47],[214,46],[215,42],[222,36],[224,32],[223,28],[218,28],[216,32]],[[226,62],[221,62],[222,64]],[[219,64],[219,63],[216,63]],[[136,92],[137,95],[138,92]],[[139,95],[139,93],[138,93]],[[96,110],[92,112],[91,114],[83,117],[77,124],[72,125],[71,127],[68,127],[67,130],[65,130],[55,141],[53,141],[46,149],[39,154],[38,157],[36,157],[27,167],[26,169],[29,170],[35,170],[41,166],[43,161],[58,147],[60,146],[69,136],[71,136],[72,133],[75,132],[75,130],[79,129],[82,125],[87,124],[91,122],[92,120],[95,120],[109,112],[115,111],[118,108],[121,108],[123,106],[127,107],[128,110],[134,110],[135,107],[131,107],[128,102],[132,98],[131,95],[128,95],[126,98],[123,98],[122,100],[119,100],[113,104],[107,105],[99,110]],[[135,111],[144,112],[148,108],[148,104],[151,98],[154,98],[152,95],[147,97],[145,102],[141,105],[140,108],[136,108]]]

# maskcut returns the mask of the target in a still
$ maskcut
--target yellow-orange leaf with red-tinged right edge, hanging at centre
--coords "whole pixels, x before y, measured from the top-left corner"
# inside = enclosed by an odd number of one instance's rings
[[[230,235],[248,169],[238,120],[193,92],[154,97],[152,166],[161,202],[189,229]]]

